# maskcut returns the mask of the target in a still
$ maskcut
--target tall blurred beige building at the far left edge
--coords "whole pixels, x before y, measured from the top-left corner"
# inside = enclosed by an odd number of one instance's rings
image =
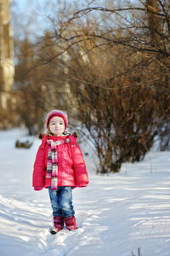
[[[7,127],[14,84],[14,41],[10,26],[10,0],[0,0],[0,128]]]

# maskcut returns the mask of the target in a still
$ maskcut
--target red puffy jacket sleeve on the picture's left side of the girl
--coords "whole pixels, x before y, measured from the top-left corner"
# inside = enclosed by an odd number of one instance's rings
[[[32,177],[33,187],[43,187],[45,180],[45,152],[42,145],[37,150],[36,160],[34,163],[34,171]]]

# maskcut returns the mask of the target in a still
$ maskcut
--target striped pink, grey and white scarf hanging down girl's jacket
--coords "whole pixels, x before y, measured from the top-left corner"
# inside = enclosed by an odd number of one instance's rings
[[[48,140],[48,164],[47,164],[47,175],[46,177],[51,178],[51,189],[57,190],[58,183],[58,158],[57,158],[57,146],[69,143],[70,139],[60,140],[54,142],[53,140]]]

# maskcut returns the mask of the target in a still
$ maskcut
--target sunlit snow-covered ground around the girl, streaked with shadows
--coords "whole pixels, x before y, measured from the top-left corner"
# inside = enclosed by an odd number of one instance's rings
[[[20,135],[0,131],[1,256],[138,256],[139,248],[142,256],[170,255],[170,152],[152,152],[110,177],[96,176],[94,156],[85,155],[90,183],[73,190],[78,230],[52,236],[48,190],[31,187],[41,142],[14,148]]]

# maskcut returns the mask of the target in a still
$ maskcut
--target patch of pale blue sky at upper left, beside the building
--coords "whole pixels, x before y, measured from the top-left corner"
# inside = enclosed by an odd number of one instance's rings
[[[58,3],[58,0],[56,1]],[[44,29],[50,26],[48,15],[54,13],[47,0],[12,0],[11,25],[14,38],[41,37]]]

